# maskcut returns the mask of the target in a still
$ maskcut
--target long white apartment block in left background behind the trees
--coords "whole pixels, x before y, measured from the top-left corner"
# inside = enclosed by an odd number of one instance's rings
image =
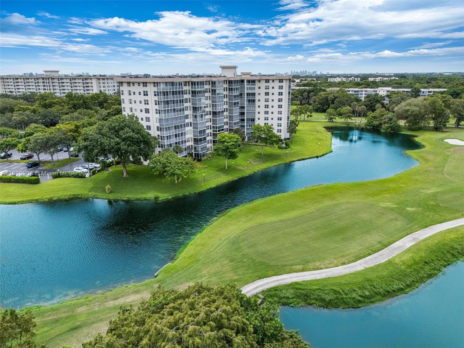
[[[100,90],[115,94],[118,90],[113,77],[96,76],[66,76],[59,75],[58,70],[44,70],[45,75],[0,77],[0,92],[9,94],[54,92],[58,97],[68,92],[89,95]]]

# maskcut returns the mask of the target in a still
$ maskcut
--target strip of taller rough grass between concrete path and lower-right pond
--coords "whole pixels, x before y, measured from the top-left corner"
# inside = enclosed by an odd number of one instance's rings
[[[406,294],[464,257],[464,226],[439,232],[382,264],[344,276],[280,285],[266,301],[293,307],[355,308]]]

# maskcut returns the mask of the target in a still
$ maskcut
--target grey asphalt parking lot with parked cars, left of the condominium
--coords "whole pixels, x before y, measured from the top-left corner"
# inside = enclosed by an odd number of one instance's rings
[[[19,160],[19,157],[21,157],[21,153],[13,150],[10,151],[13,153],[12,157],[9,157],[8,160]],[[68,153],[65,151],[58,152],[58,154],[53,156],[53,159],[56,163],[59,163],[59,160],[62,160],[64,158],[68,158]],[[37,156],[34,155],[28,162],[35,162],[37,161]],[[40,154],[40,161],[52,161],[52,158],[50,155],[45,155],[45,154]],[[52,176],[51,174],[54,172],[58,171],[65,171],[69,172],[72,171],[74,168],[79,167],[79,165],[84,164],[83,160],[79,160],[70,164],[67,164],[63,167],[60,168],[55,168],[55,169],[43,169],[45,167],[45,164],[41,164],[37,167],[34,168],[26,168],[26,163],[0,163],[0,172],[7,170],[8,172],[39,172],[40,173],[40,182],[44,182],[47,180],[51,180]]]

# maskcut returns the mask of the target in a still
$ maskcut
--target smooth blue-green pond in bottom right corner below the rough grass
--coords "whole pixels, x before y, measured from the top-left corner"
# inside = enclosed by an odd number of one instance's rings
[[[286,329],[312,348],[464,347],[464,262],[418,290],[359,309],[282,307]]]

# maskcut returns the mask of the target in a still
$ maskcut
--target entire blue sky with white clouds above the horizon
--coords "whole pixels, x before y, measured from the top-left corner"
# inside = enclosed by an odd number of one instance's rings
[[[464,71],[464,1],[0,1],[0,74]]]

